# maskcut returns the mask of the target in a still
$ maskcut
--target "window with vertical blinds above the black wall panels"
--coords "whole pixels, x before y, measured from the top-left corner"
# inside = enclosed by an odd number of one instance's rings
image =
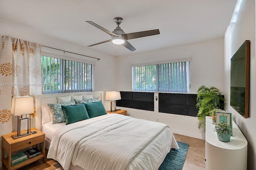
[[[190,92],[190,61],[133,66],[133,90]]]

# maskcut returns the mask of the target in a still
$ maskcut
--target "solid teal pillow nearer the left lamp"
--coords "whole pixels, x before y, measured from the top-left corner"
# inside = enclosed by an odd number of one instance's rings
[[[66,119],[66,125],[77,121],[90,119],[84,104],[61,106]]]

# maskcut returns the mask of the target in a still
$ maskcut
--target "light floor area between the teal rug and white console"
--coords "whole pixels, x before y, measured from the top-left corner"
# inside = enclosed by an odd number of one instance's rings
[[[177,141],[188,143],[188,153],[182,170],[205,170],[205,140],[174,134]]]

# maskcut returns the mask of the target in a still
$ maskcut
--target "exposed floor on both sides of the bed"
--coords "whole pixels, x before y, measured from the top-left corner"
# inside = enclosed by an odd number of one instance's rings
[[[184,135],[174,134],[177,141],[188,143],[188,154],[186,156],[185,164],[182,170],[205,170],[205,141],[202,139],[196,139],[187,137]],[[59,168],[59,169],[58,169]],[[58,162],[46,159],[46,163],[43,164],[42,159],[33,162],[18,170],[63,170]],[[0,168],[0,170],[6,170],[6,168]]]

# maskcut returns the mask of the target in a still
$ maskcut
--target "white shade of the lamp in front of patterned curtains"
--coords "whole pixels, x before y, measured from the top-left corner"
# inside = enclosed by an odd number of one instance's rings
[[[12,98],[11,113],[14,116],[34,113],[34,101],[32,96]]]

